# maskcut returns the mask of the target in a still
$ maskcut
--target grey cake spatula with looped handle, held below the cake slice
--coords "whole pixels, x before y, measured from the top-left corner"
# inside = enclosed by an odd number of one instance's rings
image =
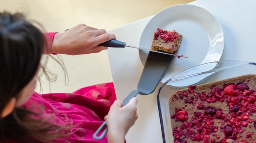
[[[166,69],[171,63],[173,56],[168,54],[161,54],[157,52],[149,52],[148,58],[146,60],[141,78],[137,90],[133,90],[124,100],[123,106],[125,106],[131,98],[135,97],[137,94],[148,95],[153,93],[162,80]],[[93,138],[100,140],[104,137],[108,131],[108,127],[101,133],[100,136],[97,136],[99,132],[107,126],[107,121],[104,121],[103,124],[98,128],[98,130],[93,134]]]

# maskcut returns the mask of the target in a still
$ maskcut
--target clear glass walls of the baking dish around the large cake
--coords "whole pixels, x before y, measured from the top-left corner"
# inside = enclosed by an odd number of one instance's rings
[[[236,62],[235,62],[236,63]],[[220,61],[220,63],[217,63],[218,68],[226,67],[227,65],[234,64],[234,61]],[[209,74],[209,73],[208,73]],[[243,76],[247,74],[256,74],[256,64],[246,64],[246,65],[240,65],[240,66],[233,66],[232,68],[223,69],[218,72],[213,72],[209,74],[209,76],[202,82],[198,84],[194,84],[197,87],[200,87],[200,85],[203,84],[209,84],[210,82],[215,82],[219,80],[226,80],[228,78],[234,78],[237,76]],[[183,74],[184,76],[184,74]],[[199,75],[200,76],[200,75]],[[175,77],[173,77],[175,78]],[[193,76],[192,78],[195,78]],[[186,79],[188,80],[188,79]],[[182,80],[179,80],[181,82]],[[170,81],[172,82],[172,81]],[[205,85],[204,85],[205,86]],[[186,87],[187,88],[187,87]],[[161,128],[162,128],[162,136],[163,136],[163,143],[173,143],[173,134],[172,134],[172,126],[171,126],[171,117],[169,112],[169,99],[172,98],[171,95],[173,93],[177,93],[178,90],[181,90],[184,88],[175,88],[167,85],[162,85],[162,87],[159,89],[158,92],[158,104],[159,104],[159,117],[161,122]],[[200,89],[200,88],[198,88]],[[171,106],[171,108],[173,108]],[[175,108],[175,107],[174,107]],[[159,141],[161,142],[161,141]]]

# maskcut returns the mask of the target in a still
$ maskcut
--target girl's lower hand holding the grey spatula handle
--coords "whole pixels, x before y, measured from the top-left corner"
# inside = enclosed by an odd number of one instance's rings
[[[135,124],[138,98],[132,98],[123,106],[123,102],[116,100],[105,117],[108,125],[108,143],[124,143],[124,138],[130,127]]]

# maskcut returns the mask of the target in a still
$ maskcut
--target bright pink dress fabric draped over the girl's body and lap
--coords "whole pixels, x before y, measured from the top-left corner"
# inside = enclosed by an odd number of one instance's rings
[[[100,141],[94,140],[92,135],[103,123],[115,100],[113,83],[106,83],[85,87],[73,93],[34,93],[23,106],[36,113],[40,113],[40,107],[44,106],[46,110],[43,116],[54,116],[51,118],[54,124],[64,125],[66,116],[73,125],[80,123],[74,127],[77,132],[74,132],[70,141],[66,142],[107,143],[106,135]]]

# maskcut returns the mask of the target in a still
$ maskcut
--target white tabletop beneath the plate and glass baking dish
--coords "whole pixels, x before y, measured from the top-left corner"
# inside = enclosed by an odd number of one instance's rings
[[[225,36],[222,60],[256,62],[255,0],[197,0],[190,4],[207,9],[220,22]],[[118,40],[125,41],[129,45],[139,46],[141,33],[152,17],[111,30],[109,33],[114,33]],[[143,70],[139,52],[132,48],[109,48],[108,58],[117,99],[123,100],[130,91],[137,89]],[[126,135],[127,143],[162,142],[156,100],[157,90],[150,95],[138,95],[139,118]]]

